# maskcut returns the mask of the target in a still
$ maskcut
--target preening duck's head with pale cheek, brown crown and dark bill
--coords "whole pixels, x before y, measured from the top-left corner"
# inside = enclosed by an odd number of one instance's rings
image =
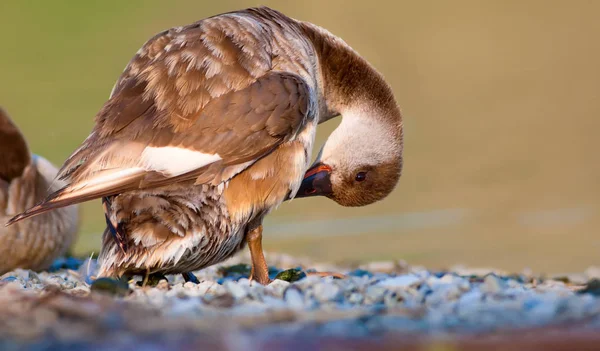
[[[342,206],[365,206],[392,192],[402,171],[402,128],[391,119],[364,118],[369,112],[344,114],[296,198],[326,196]]]

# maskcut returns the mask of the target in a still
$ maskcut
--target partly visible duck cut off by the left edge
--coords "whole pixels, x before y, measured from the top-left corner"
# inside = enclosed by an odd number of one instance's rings
[[[5,222],[43,200],[48,189],[63,187],[63,182],[54,182],[57,173],[52,163],[29,151],[21,131],[0,108],[0,220]],[[74,205],[0,227],[0,275],[17,268],[48,269],[74,243],[78,225],[79,210]]]

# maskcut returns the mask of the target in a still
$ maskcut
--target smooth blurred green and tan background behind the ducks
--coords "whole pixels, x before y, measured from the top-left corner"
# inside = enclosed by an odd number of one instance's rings
[[[0,104],[60,165],[148,38],[261,4],[329,29],[375,65],[406,135],[389,198],[286,203],[268,217],[267,250],[432,268],[600,264],[600,1],[3,0]],[[75,251],[97,251],[103,226],[99,202],[86,204]]]

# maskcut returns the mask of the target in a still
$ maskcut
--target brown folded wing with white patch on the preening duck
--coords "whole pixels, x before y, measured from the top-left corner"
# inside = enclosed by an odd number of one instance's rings
[[[267,34],[246,20],[213,17],[147,42],[60,170],[69,185],[8,224],[176,181],[214,184],[295,138],[315,118],[312,90],[271,70]]]

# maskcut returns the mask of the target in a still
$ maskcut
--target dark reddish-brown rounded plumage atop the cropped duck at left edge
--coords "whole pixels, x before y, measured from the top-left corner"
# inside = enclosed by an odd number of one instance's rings
[[[8,114],[0,108],[0,179],[10,183],[31,162],[27,142]]]

